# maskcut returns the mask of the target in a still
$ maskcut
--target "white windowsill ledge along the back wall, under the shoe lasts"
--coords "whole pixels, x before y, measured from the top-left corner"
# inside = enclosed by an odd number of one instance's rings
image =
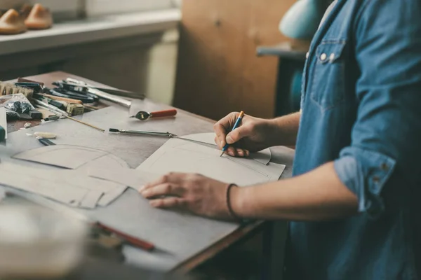
[[[174,8],[62,22],[47,30],[0,35],[0,55],[166,31],[180,20],[181,12]]]

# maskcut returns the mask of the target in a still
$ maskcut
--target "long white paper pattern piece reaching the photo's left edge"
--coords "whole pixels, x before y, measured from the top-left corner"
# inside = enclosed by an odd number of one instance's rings
[[[95,208],[103,192],[80,188],[60,176],[55,170],[36,169],[14,165],[9,162],[0,164],[0,183],[30,193],[36,193],[72,207]]]

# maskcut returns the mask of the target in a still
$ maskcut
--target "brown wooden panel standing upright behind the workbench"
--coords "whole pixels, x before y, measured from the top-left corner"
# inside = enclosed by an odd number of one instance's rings
[[[230,111],[274,116],[276,57],[258,45],[286,38],[279,21],[295,0],[184,0],[175,106],[219,119]]]

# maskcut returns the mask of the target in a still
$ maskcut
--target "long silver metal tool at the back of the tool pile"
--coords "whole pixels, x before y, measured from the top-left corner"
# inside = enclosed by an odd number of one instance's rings
[[[127,99],[123,99],[121,97],[117,97],[115,95],[109,94],[102,90],[98,90],[97,87],[93,85],[89,85],[88,83],[83,82],[82,80],[76,80],[74,78],[67,78],[66,80],[59,80],[53,85],[56,85],[64,90],[72,90],[73,92],[81,92],[82,94],[94,94],[99,98],[109,100],[111,102],[115,102],[127,108],[130,108],[131,101]]]

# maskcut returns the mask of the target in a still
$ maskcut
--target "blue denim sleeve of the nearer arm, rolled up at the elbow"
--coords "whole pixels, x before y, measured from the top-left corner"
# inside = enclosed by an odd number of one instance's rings
[[[359,211],[376,218],[388,206],[386,188],[416,186],[420,180],[421,3],[379,0],[362,5],[354,23],[359,108],[352,144],[342,149],[334,167],[358,197]],[[398,18],[388,13],[396,8]],[[406,186],[390,183],[392,176],[404,179]]]

